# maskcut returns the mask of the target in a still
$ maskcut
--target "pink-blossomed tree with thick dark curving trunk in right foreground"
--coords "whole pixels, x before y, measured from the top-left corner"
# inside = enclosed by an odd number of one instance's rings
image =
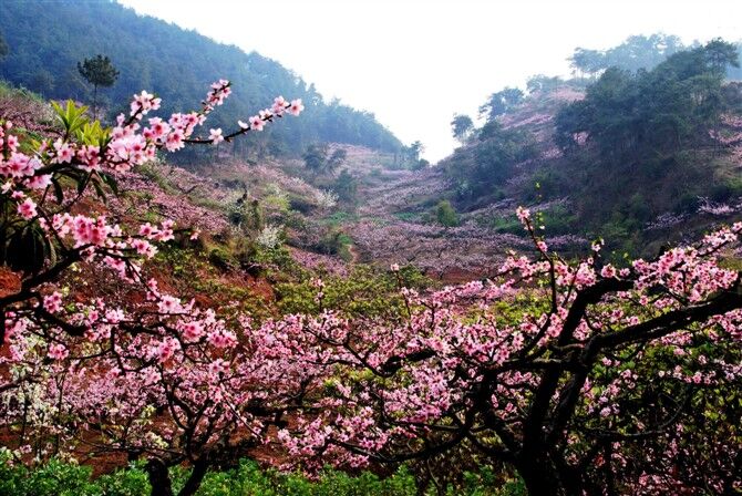
[[[718,257],[742,223],[618,269],[599,244],[561,259],[518,215],[538,257],[513,254],[487,283],[402,289],[399,321],[293,319],[275,353],[313,350],[333,378],[279,433],[293,459],[363,466],[465,446],[533,495],[740,490],[742,275]]]

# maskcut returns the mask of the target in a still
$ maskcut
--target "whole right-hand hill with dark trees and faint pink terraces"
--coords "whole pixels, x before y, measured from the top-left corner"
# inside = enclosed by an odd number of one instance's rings
[[[728,79],[739,46],[632,37],[577,49],[571,62],[579,78],[494,93],[481,127],[452,122],[462,146],[441,166],[460,210],[517,232],[486,207],[540,205],[552,234],[604,237],[633,254],[740,216],[742,86]]]

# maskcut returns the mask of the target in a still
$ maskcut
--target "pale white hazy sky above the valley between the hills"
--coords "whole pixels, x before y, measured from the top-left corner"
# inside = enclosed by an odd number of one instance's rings
[[[658,31],[742,39],[741,0],[120,1],[276,59],[403,142],[422,141],[433,162],[453,149],[454,113],[474,116],[488,94],[528,75],[568,74],[575,46]]]

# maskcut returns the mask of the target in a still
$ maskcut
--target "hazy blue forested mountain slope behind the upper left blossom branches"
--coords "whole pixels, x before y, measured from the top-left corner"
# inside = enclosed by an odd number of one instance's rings
[[[256,25],[255,29],[260,29]],[[0,33],[9,54],[0,60],[0,78],[50,99],[90,101],[91,89],[76,63],[95,54],[111,58],[121,75],[101,93],[109,115],[127,105],[143,89],[163,99],[164,112],[190,110],[208,84],[226,78],[234,96],[219,107],[212,125],[231,128],[238,118],[269,106],[272,99],[302,99],[306,113],[240,141],[237,152],[298,153],[313,142],[364,145],[396,151],[400,141],[373,114],[338,101],[326,102],[312,84],[256,52],[217,43],[109,0],[0,2]]]

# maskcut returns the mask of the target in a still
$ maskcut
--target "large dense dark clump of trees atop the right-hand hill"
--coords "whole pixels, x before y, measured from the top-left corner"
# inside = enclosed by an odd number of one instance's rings
[[[649,72],[610,68],[585,100],[557,115],[557,144],[574,149],[583,135],[604,158],[630,164],[703,140],[725,108],[724,70],[739,65],[736,56],[733,45],[714,40],[678,52]]]

